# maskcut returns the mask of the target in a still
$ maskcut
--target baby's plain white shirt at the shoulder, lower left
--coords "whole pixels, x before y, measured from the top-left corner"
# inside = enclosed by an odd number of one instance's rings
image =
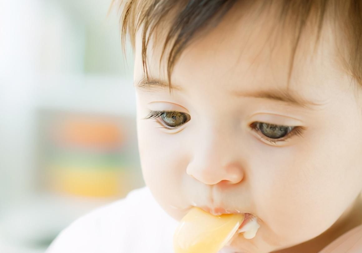
[[[177,225],[143,187],[77,219],[46,253],[173,253]]]

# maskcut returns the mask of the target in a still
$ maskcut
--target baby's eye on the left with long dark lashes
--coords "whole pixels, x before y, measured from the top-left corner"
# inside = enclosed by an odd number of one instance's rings
[[[146,119],[159,117],[161,121],[168,126],[166,128],[169,129],[179,127],[191,119],[189,114],[180,113],[179,111],[151,111]]]

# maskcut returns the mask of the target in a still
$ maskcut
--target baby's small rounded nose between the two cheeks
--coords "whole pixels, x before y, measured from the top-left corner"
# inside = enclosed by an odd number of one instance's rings
[[[243,171],[233,142],[235,134],[223,122],[208,125],[199,133],[186,173],[209,185],[223,180],[239,182]]]

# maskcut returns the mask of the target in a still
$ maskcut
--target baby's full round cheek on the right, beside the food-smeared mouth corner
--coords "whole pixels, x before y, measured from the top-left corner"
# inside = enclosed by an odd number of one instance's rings
[[[259,231],[265,231],[260,233],[265,241],[292,245],[310,240],[327,230],[353,201],[360,189],[353,189],[353,184],[348,182],[353,182],[357,175],[349,175],[345,168],[353,167],[349,161],[355,161],[356,157],[351,152],[331,156],[335,148],[319,143],[303,150],[285,149],[285,154],[279,153],[284,157],[283,163],[280,157],[278,162],[270,156],[269,161],[274,162],[253,176],[253,179],[264,179],[262,183],[255,180],[251,185],[255,186],[258,215],[265,222]],[[254,166],[263,168],[262,164]]]

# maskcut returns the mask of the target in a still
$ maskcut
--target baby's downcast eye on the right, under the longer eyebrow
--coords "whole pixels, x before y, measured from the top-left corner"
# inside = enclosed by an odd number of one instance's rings
[[[262,139],[274,144],[279,141],[285,141],[294,134],[302,136],[303,130],[302,127],[298,126],[281,126],[264,122],[254,122],[251,127],[267,137],[263,138],[263,136],[260,136]]]

